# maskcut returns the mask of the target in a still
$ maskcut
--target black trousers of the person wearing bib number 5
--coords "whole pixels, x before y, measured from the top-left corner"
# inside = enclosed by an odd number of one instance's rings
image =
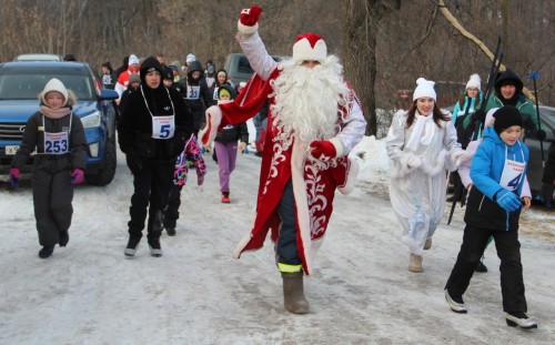
[[[129,207],[131,215],[128,223],[129,234],[131,236],[142,236],[148,209],[149,240],[158,240],[162,232],[161,214],[168,205],[168,197],[173,183],[175,160],[143,160],[142,163],[141,171],[133,175],[134,192],[131,196],[131,207]]]

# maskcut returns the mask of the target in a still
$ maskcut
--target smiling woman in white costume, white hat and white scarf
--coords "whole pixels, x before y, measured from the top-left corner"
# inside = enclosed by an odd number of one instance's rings
[[[416,82],[413,101],[432,98],[436,108],[434,82],[423,78]],[[434,112],[426,116],[417,109],[414,111],[414,121],[408,128],[410,111],[394,115],[385,145],[390,156],[390,199],[403,230],[401,240],[411,252],[410,271],[422,272],[423,250],[432,245],[432,236],[443,216],[445,169],[455,170],[453,162],[465,152],[450,118],[434,119]]]

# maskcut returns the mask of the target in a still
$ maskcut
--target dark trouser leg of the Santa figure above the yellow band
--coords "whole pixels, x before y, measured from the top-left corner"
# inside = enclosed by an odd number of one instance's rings
[[[291,180],[285,184],[279,207],[282,224],[275,247],[278,262],[286,265],[300,265],[302,262],[296,247],[295,196]]]

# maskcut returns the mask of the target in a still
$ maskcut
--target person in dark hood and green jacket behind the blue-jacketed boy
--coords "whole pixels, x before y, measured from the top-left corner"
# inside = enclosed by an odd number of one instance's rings
[[[534,103],[528,100],[523,93],[524,84],[522,80],[511,69],[497,74],[494,84],[494,92],[486,100],[487,103],[483,111],[475,111],[472,116],[465,119],[463,125],[466,129],[468,125],[474,125],[474,139],[482,136],[483,123],[485,114],[494,108],[513,105],[521,112],[523,118],[525,136],[533,136],[538,140],[545,139],[545,131],[538,130],[538,119],[534,109]]]

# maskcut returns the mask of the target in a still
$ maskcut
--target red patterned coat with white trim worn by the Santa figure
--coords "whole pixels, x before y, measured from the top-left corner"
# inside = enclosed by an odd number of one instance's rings
[[[275,69],[268,82],[255,74],[234,102],[220,104],[222,121],[219,128],[236,124],[254,116],[272,91],[270,81],[279,73],[279,69]],[[360,106],[354,91],[350,90],[350,104],[356,102]],[[270,109],[273,103],[274,98],[270,98]],[[337,116],[340,116],[339,113]],[[281,224],[278,206],[286,182],[292,179],[296,203],[299,255],[305,274],[310,274],[314,252],[321,243],[317,240],[323,239],[332,214],[335,189],[340,189],[345,194],[351,192],[359,166],[356,162],[349,160],[347,155],[332,159],[326,163],[314,162],[306,158],[307,146],[300,140],[291,138],[287,143],[275,140],[278,130],[272,124],[273,113],[270,110],[256,215],[252,230],[238,244],[234,256],[239,257],[242,252],[261,248],[269,231],[271,231],[272,241],[278,240]]]

